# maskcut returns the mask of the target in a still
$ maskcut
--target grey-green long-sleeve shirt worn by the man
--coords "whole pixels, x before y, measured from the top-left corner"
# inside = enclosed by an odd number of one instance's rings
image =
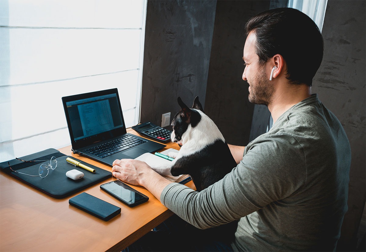
[[[314,94],[250,142],[222,180],[202,192],[172,183],[160,200],[202,229],[240,219],[235,251],[332,251],[350,162],[343,127]]]

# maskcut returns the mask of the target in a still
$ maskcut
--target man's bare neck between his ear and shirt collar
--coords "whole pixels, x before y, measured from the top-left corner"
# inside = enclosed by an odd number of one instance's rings
[[[311,96],[309,86],[287,85],[278,88],[272,96],[268,109],[271,112],[273,123],[295,104]]]

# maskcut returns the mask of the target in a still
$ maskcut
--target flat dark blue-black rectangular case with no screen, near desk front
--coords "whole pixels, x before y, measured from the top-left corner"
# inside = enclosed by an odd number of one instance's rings
[[[86,192],[69,199],[69,204],[94,215],[103,221],[109,221],[121,213],[121,208],[94,197]]]

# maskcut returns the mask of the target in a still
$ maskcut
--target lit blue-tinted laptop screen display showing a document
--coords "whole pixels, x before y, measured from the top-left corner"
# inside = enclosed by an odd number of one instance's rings
[[[66,102],[74,141],[122,128],[116,94]]]

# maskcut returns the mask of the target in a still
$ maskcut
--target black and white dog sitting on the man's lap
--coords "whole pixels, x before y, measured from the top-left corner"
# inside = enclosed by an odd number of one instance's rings
[[[182,147],[178,154],[168,154],[175,158],[171,164],[152,168],[164,175],[190,174],[197,191],[202,191],[231,172],[236,162],[219,128],[203,112],[198,96],[191,109],[180,97],[178,104],[182,109],[172,121],[171,139]]]

